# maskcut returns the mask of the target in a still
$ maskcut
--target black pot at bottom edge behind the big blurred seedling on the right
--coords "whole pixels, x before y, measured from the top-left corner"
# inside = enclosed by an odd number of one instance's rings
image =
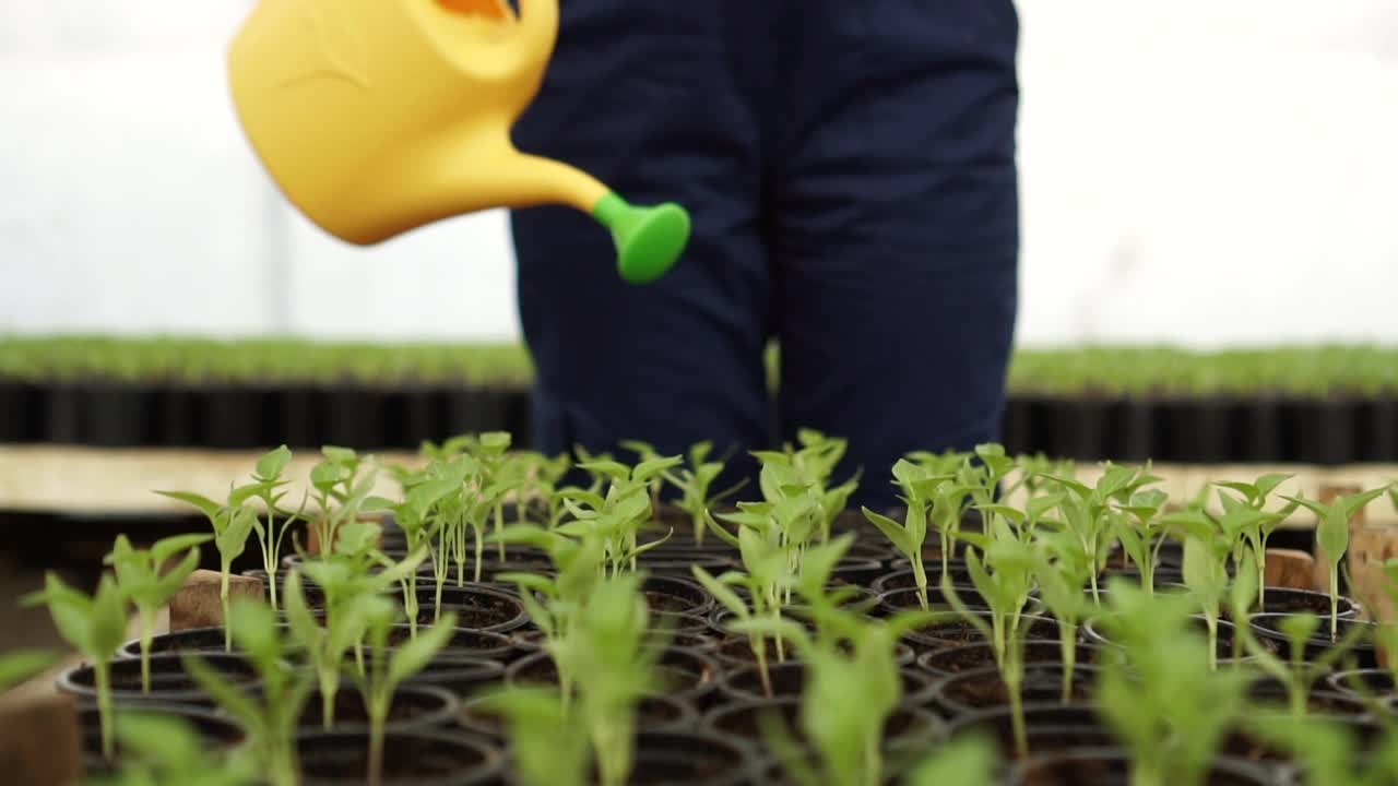
[[[1011,768],[1009,786],[1128,786],[1131,757],[1120,748],[1082,748],[1032,755]],[[1216,758],[1204,786],[1275,786],[1274,773],[1251,762]]]

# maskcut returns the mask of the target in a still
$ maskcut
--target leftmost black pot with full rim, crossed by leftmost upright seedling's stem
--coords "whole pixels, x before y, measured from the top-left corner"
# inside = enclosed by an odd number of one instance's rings
[[[204,663],[242,689],[256,689],[260,684],[252,663],[239,655],[203,655]],[[151,691],[141,691],[141,662],[119,657],[110,663],[113,702],[169,702],[208,706],[212,698],[185,671],[179,655],[151,656]],[[96,671],[91,664],[74,666],[59,674],[57,688],[84,701],[96,701]]]

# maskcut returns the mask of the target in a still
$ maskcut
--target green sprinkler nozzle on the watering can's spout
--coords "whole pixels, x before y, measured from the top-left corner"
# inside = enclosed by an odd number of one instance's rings
[[[689,214],[674,203],[633,207],[610,193],[593,208],[593,218],[611,229],[617,270],[632,284],[664,276],[689,243]]]

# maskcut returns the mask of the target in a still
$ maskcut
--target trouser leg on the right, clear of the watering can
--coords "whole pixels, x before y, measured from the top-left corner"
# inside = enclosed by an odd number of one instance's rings
[[[783,431],[847,436],[853,502],[891,506],[906,452],[998,439],[1018,18],[1011,0],[804,7],[774,186]]]

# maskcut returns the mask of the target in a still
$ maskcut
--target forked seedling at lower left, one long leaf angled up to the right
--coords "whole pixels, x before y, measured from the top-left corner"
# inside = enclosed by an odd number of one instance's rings
[[[383,782],[383,737],[389,722],[389,708],[393,692],[405,680],[422,671],[442,650],[456,628],[456,613],[442,615],[429,629],[414,636],[403,646],[389,650],[389,632],[401,611],[386,597],[370,596],[347,607],[345,624],[365,629],[366,643],[373,650],[370,666],[365,673],[355,673],[355,683],[363,696],[365,712],[369,715],[369,772],[370,786]]]

